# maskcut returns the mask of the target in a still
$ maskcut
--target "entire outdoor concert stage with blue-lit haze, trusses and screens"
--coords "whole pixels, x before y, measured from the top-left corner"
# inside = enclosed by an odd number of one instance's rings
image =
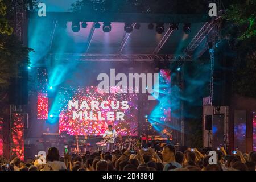
[[[28,102],[26,107],[13,103],[10,125],[3,123],[5,132],[11,131],[3,142],[3,148],[11,148],[3,151],[6,156],[33,158],[51,146],[63,155],[65,144],[71,152],[105,150],[102,134],[109,124],[134,147],[186,146],[195,136],[189,130],[196,129],[203,130],[203,147],[253,148],[253,131],[246,129],[253,129],[255,102],[235,98],[230,107],[213,103],[222,92],[212,90],[214,60],[207,43],[218,37],[212,31],[218,23],[192,23],[189,34],[181,24],[175,31],[164,24],[162,34],[149,29],[148,23],[132,33],[123,31],[123,26],[114,22],[106,33],[88,22],[87,28],[73,32],[72,22],[63,28],[57,21],[30,20],[28,46],[35,52],[28,68]],[[192,61],[202,55],[207,55],[206,64]],[[203,100],[205,96],[209,97]],[[194,108],[199,114],[193,113]],[[210,129],[205,127],[207,115],[212,115]],[[194,118],[199,122],[191,129],[188,123]],[[164,129],[171,138],[162,137]]]

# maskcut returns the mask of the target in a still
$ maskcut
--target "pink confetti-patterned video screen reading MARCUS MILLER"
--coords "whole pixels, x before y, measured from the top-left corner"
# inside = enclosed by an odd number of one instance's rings
[[[73,96],[60,101],[63,105],[59,115],[60,133],[98,136],[103,135],[111,124],[124,136],[137,136],[137,94],[98,93],[96,86],[63,89],[59,94],[69,96],[69,92]],[[70,108],[69,102],[73,104]]]

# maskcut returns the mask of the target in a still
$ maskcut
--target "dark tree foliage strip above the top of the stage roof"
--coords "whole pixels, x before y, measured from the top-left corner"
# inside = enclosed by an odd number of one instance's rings
[[[187,5],[187,6],[184,6]],[[202,13],[208,9],[201,0],[80,0],[71,11],[108,11],[115,13]]]

